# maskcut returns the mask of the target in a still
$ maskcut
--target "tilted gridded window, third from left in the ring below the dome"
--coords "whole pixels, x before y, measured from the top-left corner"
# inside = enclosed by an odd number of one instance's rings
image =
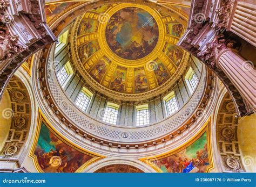
[[[82,110],[86,111],[87,107],[90,104],[91,98],[93,94],[90,92],[88,89],[83,87],[83,89],[80,91],[77,100],[76,100],[76,105]]]

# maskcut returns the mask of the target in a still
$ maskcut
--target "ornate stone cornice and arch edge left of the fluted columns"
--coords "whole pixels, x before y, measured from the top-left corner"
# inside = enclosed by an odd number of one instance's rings
[[[248,111],[247,103],[225,73],[215,66],[216,59],[221,50],[227,48],[227,41],[219,30],[225,28],[228,18],[220,12],[230,12],[232,0],[211,1],[193,0],[191,5],[188,28],[179,40],[178,46],[197,56],[223,81],[231,93],[239,116],[244,116]],[[223,6],[222,8],[217,8]]]

